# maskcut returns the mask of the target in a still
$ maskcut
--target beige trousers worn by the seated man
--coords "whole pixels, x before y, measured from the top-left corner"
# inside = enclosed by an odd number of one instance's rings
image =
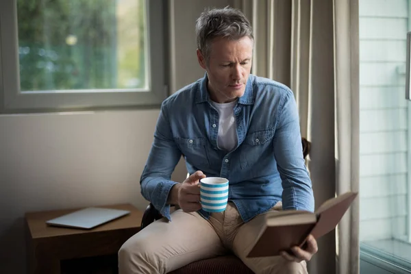
[[[281,208],[277,204],[273,210]],[[307,273],[306,262],[288,262],[281,256],[246,258],[264,214],[243,223],[234,203],[208,220],[197,212],[177,210],[171,221],[151,223],[129,238],[119,251],[119,274],[169,273],[197,260],[231,250],[254,273]]]

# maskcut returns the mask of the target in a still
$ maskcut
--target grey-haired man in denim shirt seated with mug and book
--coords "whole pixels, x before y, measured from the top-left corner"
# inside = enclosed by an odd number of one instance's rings
[[[306,273],[317,251],[312,236],[305,250],[246,258],[264,212],[314,210],[292,91],[250,75],[253,33],[240,11],[203,12],[196,31],[206,75],[162,103],[140,181],[164,218],[125,242],[119,271],[168,273],[231,250],[255,273]],[[181,155],[191,175],[177,183],[170,178]],[[198,184],[206,176],[229,179],[225,212],[201,210]],[[170,205],[180,209],[170,214]]]

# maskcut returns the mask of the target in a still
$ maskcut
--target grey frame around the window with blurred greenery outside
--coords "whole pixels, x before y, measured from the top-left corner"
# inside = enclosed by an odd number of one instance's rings
[[[169,95],[166,71],[166,1],[145,0],[145,5],[149,90],[21,92],[17,0],[0,1],[0,114],[159,107]]]

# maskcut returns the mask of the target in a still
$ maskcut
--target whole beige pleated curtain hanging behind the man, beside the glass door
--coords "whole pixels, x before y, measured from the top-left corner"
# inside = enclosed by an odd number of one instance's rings
[[[316,208],[358,191],[358,0],[237,1],[256,36],[253,73],[295,92],[301,135],[312,142],[308,168]],[[359,203],[336,232],[319,239],[310,273],[359,272]],[[335,271],[330,271],[334,269]]]

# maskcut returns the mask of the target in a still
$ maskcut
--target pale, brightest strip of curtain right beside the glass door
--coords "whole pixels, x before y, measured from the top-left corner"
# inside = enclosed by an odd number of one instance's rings
[[[358,0],[334,0],[336,192],[359,191],[360,57]],[[359,271],[360,199],[353,202],[338,227],[339,273]]]

